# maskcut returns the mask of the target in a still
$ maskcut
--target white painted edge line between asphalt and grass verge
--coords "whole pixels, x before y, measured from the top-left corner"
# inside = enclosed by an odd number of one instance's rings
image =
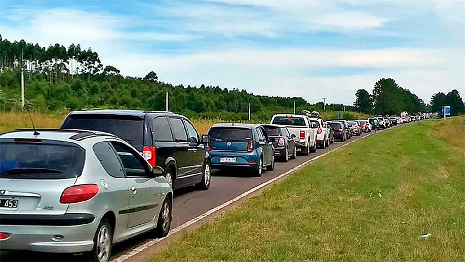
[[[380,130],[380,132],[381,132],[381,131],[384,131],[384,130]],[[182,224],[182,225],[180,225],[180,226],[178,226],[178,227],[176,227],[176,228],[171,229],[171,230],[170,230],[170,233],[169,233],[167,236],[165,236],[165,237],[163,237],[163,238],[158,238],[158,239],[150,240],[150,241],[148,241],[148,242],[146,242],[146,243],[144,243],[144,244],[138,246],[137,248],[131,250],[129,253],[119,255],[118,257],[112,259],[111,262],[123,262],[123,261],[125,261],[126,259],[128,259],[128,258],[130,258],[130,257],[132,257],[132,256],[134,256],[134,255],[139,254],[139,253],[142,252],[144,249],[147,249],[147,248],[149,248],[149,247],[155,245],[156,243],[158,243],[158,242],[160,242],[160,241],[166,239],[167,237],[170,237],[170,236],[172,236],[172,235],[178,233],[179,231],[183,230],[184,228],[187,228],[187,227],[193,225],[194,223],[199,222],[200,220],[206,218],[207,216],[212,215],[213,213],[219,211],[220,209],[226,208],[227,206],[231,205],[232,203],[237,202],[237,201],[239,201],[240,199],[246,197],[247,195],[252,194],[253,192],[259,190],[260,188],[264,188],[264,187],[266,187],[267,185],[273,183],[274,181],[277,181],[277,180],[279,180],[280,178],[285,177],[286,175],[291,174],[292,172],[296,171],[297,169],[306,166],[308,163],[310,163],[310,162],[312,162],[312,161],[315,161],[315,160],[319,159],[319,158],[322,157],[322,156],[328,155],[328,154],[331,153],[332,151],[335,151],[335,150],[337,150],[337,149],[339,149],[339,148],[343,148],[343,147],[345,147],[345,146],[347,146],[347,145],[349,145],[349,144],[351,144],[351,143],[353,143],[353,142],[355,142],[355,141],[358,141],[359,139],[363,139],[363,138],[365,138],[365,137],[368,137],[368,136],[370,136],[370,135],[372,135],[372,134],[376,134],[376,133],[367,134],[367,135],[365,135],[365,136],[363,136],[363,137],[360,137],[360,138],[358,138],[358,139],[356,139],[356,140],[354,140],[354,141],[350,141],[350,142],[348,142],[348,143],[345,143],[345,144],[343,144],[343,145],[340,145],[340,146],[337,147],[337,148],[333,148],[333,149],[329,150],[329,151],[326,152],[326,153],[323,153],[323,154],[321,154],[321,155],[317,155],[317,156],[315,156],[315,157],[313,157],[313,158],[311,158],[311,159],[309,159],[309,160],[303,162],[302,164],[300,164],[300,165],[298,165],[298,166],[295,166],[295,167],[289,169],[288,171],[284,172],[283,174],[278,175],[278,176],[275,176],[274,178],[272,178],[272,179],[270,179],[270,180],[268,180],[268,181],[265,181],[265,182],[263,182],[262,184],[259,184],[258,186],[254,187],[254,188],[251,188],[251,189],[247,190],[246,192],[244,192],[244,193],[242,193],[242,194],[240,194],[240,195],[234,197],[233,199],[231,199],[231,200],[229,200],[229,201],[227,201],[227,202],[224,202],[224,203],[220,204],[219,206],[216,206],[216,207],[214,207],[214,208],[212,208],[212,209],[206,211],[206,212],[203,213],[202,215],[199,215],[199,216],[197,216],[197,217],[194,217],[193,219],[187,221],[186,223],[184,223],[184,224]]]

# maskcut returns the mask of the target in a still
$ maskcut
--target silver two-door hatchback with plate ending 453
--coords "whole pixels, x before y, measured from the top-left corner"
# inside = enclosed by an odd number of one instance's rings
[[[0,135],[0,249],[107,262],[114,243],[168,234],[173,190],[129,143],[104,132],[36,131]]]

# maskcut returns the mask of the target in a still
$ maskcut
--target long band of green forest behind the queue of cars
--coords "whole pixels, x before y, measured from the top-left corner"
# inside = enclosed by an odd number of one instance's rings
[[[174,86],[160,81],[154,71],[145,77],[123,76],[116,67],[104,67],[99,54],[91,48],[83,49],[79,44],[41,47],[25,40],[10,42],[0,35],[0,110],[21,110],[21,72],[25,105],[34,112],[81,108],[164,110],[166,92],[170,111],[197,118],[246,120],[248,103],[252,119],[260,120],[270,119],[275,112],[292,113],[294,102],[297,112],[304,108],[323,110],[323,102],[310,104],[301,97],[255,95],[218,86]],[[428,109],[421,99],[398,87],[392,79],[378,81],[372,95],[363,91],[357,91],[354,106],[329,104],[326,111],[395,114]]]

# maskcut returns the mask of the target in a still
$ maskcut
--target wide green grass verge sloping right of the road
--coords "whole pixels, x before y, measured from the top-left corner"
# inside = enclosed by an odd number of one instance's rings
[[[464,140],[464,117],[367,137],[148,261],[465,261]]]

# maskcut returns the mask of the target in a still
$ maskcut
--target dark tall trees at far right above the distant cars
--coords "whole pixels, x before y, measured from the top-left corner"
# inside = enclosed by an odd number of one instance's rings
[[[442,92],[434,94],[428,105],[410,90],[400,87],[392,78],[381,78],[373,87],[372,94],[365,89],[355,93],[354,106],[358,112],[367,114],[399,114],[406,111],[410,114],[419,112],[439,112],[442,106],[452,106],[453,115],[464,114],[465,105],[457,90],[447,95]]]

